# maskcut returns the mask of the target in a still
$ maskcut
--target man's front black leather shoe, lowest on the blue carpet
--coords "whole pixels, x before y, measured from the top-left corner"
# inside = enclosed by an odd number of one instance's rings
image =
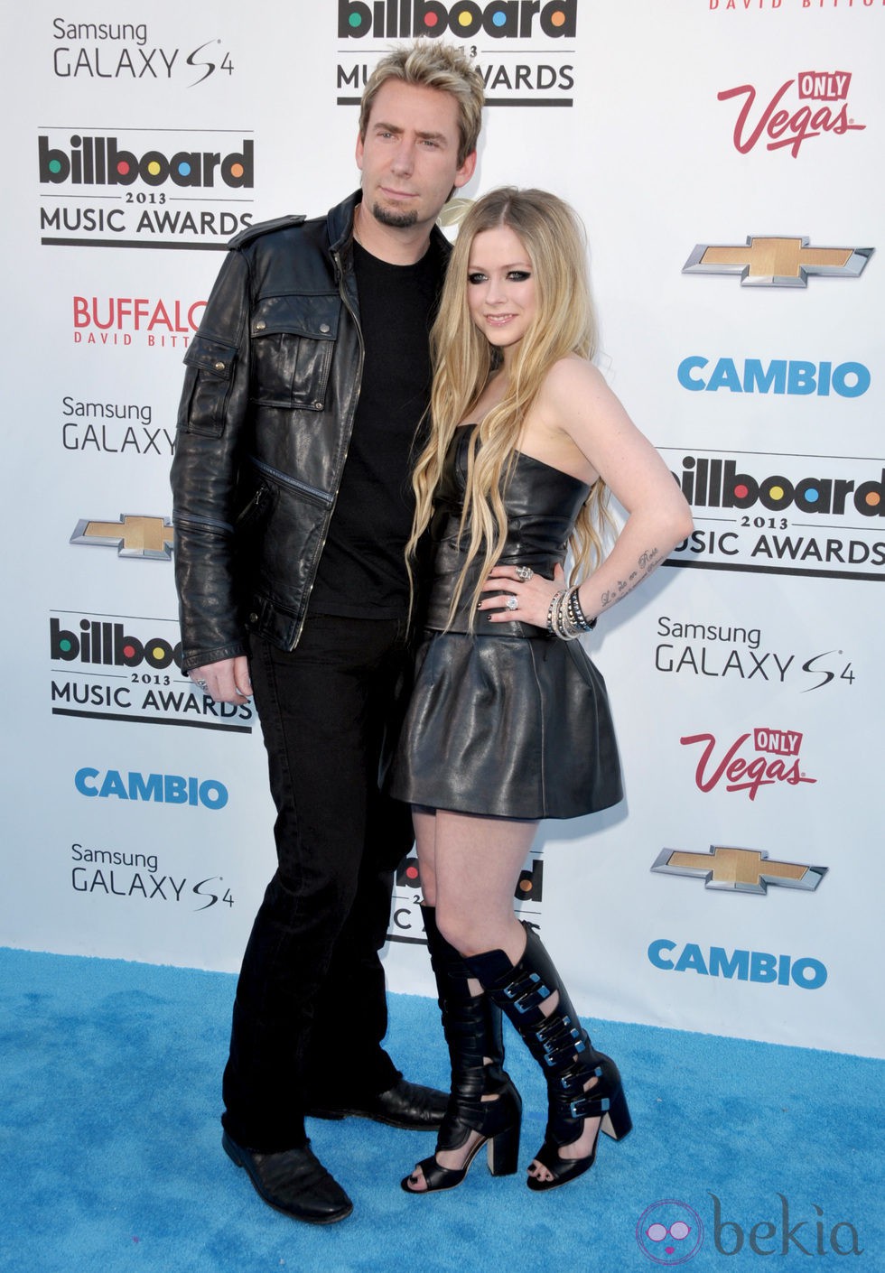
[[[284,1216],[308,1225],[332,1225],[354,1209],[344,1189],[311,1152],[311,1142],[281,1153],[256,1153],[244,1150],[222,1133],[227,1156],[244,1167],[258,1197]]]

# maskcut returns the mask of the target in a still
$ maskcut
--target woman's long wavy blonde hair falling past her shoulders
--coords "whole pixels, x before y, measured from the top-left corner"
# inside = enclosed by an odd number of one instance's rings
[[[433,517],[433,500],[456,428],[467,421],[489,376],[500,365],[500,353],[476,328],[467,306],[467,265],[474,239],[484,230],[506,225],[520,238],[535,279],[535,318],[516,349],[507,390],[474,429],[467,453],[467,480],[460,535],[469,536],[465,564],[450,608],[458,608],[467,573],[481,558],[479,580],[471,598],[476,608],[483,583],[500,556],[507,536],[503,493],[517,458],[526,415],[544,378],[560,358],[592,358],[596,321],[587,281],[583,229],[576,214],[544,190],[503,186],[479,199],[469,210],[455,243],[439,313],[430,332],[433,388],[430,434],[415,463],[415,518],[407,558]],[[602,537],[611,524],[607,488],[600,479],[581,509],[569,541],[569,582],[583,578],[602,559]]]

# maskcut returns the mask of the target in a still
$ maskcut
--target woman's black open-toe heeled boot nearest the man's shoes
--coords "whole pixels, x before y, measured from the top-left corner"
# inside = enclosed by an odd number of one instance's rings
[[[437,1151],[460,1150],[472,1132],[478,1132],[480,1139],[460,1169],[442,1167],[435,1156],[424,1158],[418,1166],[427,1189],[410,1188],[413,1178],[407,1176],[402,1181],[406,1193],[435,1193],[460,1185],[486,1142],[492,1175],[513,1175],[520,1155],[522,1116],[520,1094],[503,1068],[500,1008],[488,994],[470,993],[467,979],[471,974],[455,947],[439,933],[434,908],[421,906],[421,914],[452,1064],[452,1088]]]

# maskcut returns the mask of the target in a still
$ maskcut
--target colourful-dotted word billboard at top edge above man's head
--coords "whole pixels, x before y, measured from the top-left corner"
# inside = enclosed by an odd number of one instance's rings
[[[374,36],[376,39],[427,36],[462,36],[480,32],[493,39],[527,39],[539,32],[553,38],[573,38],[577,29],[577,0],[472,0],[442,4],[441,0],[339,0],[339,39]]]

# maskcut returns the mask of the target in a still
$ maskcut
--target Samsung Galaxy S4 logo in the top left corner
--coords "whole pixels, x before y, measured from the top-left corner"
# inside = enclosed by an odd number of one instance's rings
[[[62,80],[195,88],[213,78],[227,81],[236,69],[229,46],[218,36],[183,48],[158,43],[146,22],[53,18],[51,39],[52,74]]]

